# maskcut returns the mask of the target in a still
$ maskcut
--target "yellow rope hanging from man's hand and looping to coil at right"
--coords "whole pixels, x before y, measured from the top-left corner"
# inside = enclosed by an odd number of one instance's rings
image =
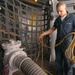
[[[43,43],[43,39],[42,41],[40,40],[40,43],[42,44],[42,61],[41,61],[41,67],[43,68],[43,46],[47,47],[47,48],[53,48],[53,47],[56,47],[58,45],[60,45],[64,40],[65,38],[67,38],[69,35],[71,34],[74,34],[74,37],[70,43],[70,45],[68,46],[68,48],[66,49],[65,51],[65,56],[70,60],[72,61],[73,63],[75,63],[75,55],[74,55],[74,49],[75,49],[75,32],[71,32],[69,34],[67,34],[58,44],[56,44],[55,46],[47,46]],[[69,51],[71,50],[71,52]],[[71,55],[70,55],[71,53]],[[45,69],[44,69],[45,70]],[[45,72],[49,73],[50,75],[53,75],[52,73],[50,73],[49,71],[45,70]]]

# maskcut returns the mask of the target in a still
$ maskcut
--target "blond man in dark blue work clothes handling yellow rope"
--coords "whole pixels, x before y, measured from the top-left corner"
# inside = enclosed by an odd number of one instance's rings
[[[48,31],[42,33],[39,38],[43,38],[45,35],[51,34],[57,29],[57,39],[56,44],[59,43],[67,34],[75,30],[75,15],[67,12],[67,7],[63,2],[59,2],[56,5],[56,10],[58,17],[56,18],[54,25]],[[68,70],[70,69],[70,64],[65,56],[65,50],[69,46],[73,36],[68,36],[63,43],[55,47],[56,53],[56,75],[63,75],[63,70],[65,75],[68,75]]]

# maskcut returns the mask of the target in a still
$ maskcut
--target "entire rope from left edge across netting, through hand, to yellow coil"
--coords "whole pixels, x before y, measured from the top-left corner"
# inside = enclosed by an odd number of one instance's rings
[[[23,38],[30,38],[30,37],[24,37],[24,36],[20,36],[20,35],[18,35],[18,34],[16,34],[16,33],[13,33],[13,32],[6,32],[5,30],[3,30],[3,29],[0,29],[0,32],[3,32],[3,33],[5,33],[5,34],[10,34],[10,35],[13,35],[13,36],[18,36],[18,37],[23,37]],[[58,46],[58,45],[60,45],[64,40],[65,40],[65,38],[66,37],[68,37],[69,35],[71,35],[71,34],[74,34],[74,37],[73,37],[73,39],[72,39],[72,41],[71,41],[71,43],[70,43],[70,45],[68,46],[68,48],[66,49],[66,51],[65,51],[65,56],[70,60],[70,61],[72,61],[73,63],[75,63],[75,32],[71,32],[71,33],[69,33],[69,34],[67,34],[58,44],[56,44],[55,46],[47,46],[47,45],[45,45],[44,43],[43,43],[43,40],[41,41],[40,39],[40,43],[42,44],[42,63],[41,63],[41,66],[43,67],[43,46],[45,46],[45,47],[47,47],[47,48],[53,48],[53,47],[56,47],[56,46]],[[38,37],[33,37],[33,38],[37,38],[38,39]],[[71,51],[71,52],[70,52]],[[71,54],[70,54],[71,53]],[[45,70],[45,69],[44,69]],[[48,72],[47,70],[45,70],[46,72]],[[51,74],[50,72],[48,72],[50,75],[53,75],[53,74]]]

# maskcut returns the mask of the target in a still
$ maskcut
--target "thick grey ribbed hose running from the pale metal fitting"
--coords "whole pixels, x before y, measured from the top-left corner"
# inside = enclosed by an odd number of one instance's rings
[[[14,59],[15,66],[25,75],[47,75],[35,62],[29,57],[17,56]]]

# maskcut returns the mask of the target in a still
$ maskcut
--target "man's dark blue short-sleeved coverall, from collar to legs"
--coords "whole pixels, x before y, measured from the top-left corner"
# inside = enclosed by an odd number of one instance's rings
[[[61,17],[56,18],[54,22],[54,27],[57,28],[57,39],[56,44],[59,43],[67,34],[75,31],[75,15],[68,13],[68,15],[61,21]],[[69,46],[73,35],[68,36],[62,44],[55,47],[56,52],[56,75],[63,75],[63,70],[65,75],[67,75],[71,64],[68,62],[65,51]]]

